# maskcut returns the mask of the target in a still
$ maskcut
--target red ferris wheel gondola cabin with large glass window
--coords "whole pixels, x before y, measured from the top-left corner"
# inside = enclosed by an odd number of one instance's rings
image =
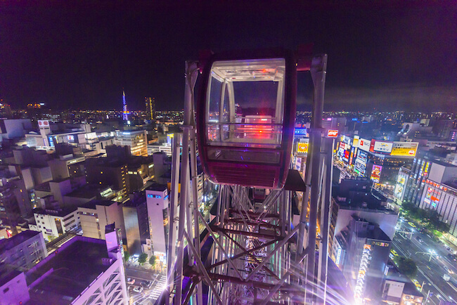
[[[205,60],[195,112],[200,158],[212,182],[283,187],[296,95],[291,51],[218,53]]]

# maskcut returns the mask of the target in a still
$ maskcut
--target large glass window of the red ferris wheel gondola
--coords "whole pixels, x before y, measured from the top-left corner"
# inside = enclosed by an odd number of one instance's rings
[[[281,148],[284,72],[283,58],[214,62],[206,95],[207,144]]]

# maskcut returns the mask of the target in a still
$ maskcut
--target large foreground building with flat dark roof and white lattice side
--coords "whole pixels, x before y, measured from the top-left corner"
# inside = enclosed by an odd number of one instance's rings
[[[122,240],[107,231],[106,241],[77,236],[27,273],[11,273],[7,304],[129,304]],[[21,280],[22,279],[22,280]],[[25,279],[25,280],[24,280]],[[0,292],[1,293],[1,292]]]

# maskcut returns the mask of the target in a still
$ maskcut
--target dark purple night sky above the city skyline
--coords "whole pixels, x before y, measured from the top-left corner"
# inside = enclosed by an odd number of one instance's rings
[[[120,110],[124,89],[130,110],[144,96],[181,110],[184,61],[200,49],[312,42],[328,53],[326,110],[457,109],[456,1],[171,2],[1,1],[0,97]],[[309,81],[299,77],[300,110]]]

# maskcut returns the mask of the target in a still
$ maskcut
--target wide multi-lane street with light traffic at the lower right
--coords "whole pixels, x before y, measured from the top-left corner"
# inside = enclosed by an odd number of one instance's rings
[[[439,304],[440,299],[457,300],[457,263],[447,256],[451,252],[429,236],[419,233],[417,228],[413,228],[406,221],[399,219],[397,226],[400,229],[395,233],[392,248],[399,255],[413,259],[418,266],[415,279],[423,285],[424,303],[429,290],[432,296],[428,298],[428,304]],[[413,230],[412,234],[399,232],[411,232],[411,230]],[[450,276],[447,282],[443,279],[445,274]]]

